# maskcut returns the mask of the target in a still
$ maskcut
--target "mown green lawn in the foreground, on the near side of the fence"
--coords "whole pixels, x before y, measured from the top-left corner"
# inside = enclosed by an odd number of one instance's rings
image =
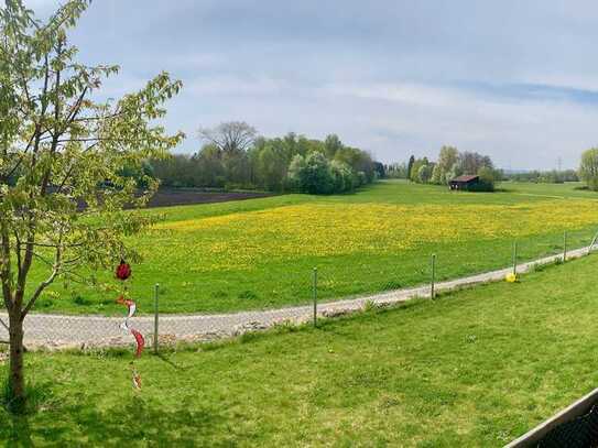
[[[24,446],[499,447],[598,385],[598,256],[414,302],[138,361],[29,353]],[[0,372],[4,374],[4,372]]]

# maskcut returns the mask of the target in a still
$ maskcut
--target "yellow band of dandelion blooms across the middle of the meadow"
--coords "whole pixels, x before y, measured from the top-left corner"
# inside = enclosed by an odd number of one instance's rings
[[[587,200],[517,205],[302,204],[268,210],[164,222],[202,251],[203,269],[250,269],[297,256],[384,253],[430,242],[521,238],[598,222]],[[163,233],[164,236],[164,233]]]

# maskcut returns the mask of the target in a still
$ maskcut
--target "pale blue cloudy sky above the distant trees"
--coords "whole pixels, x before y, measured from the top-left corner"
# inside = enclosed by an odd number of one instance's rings
[[[25,0],[40,17],[57,0]],[[371,152],[442,145],[502,168],[576,167],[598,145],[595,0],[95,0],[70,34],[118,64],[118,98],[161,70],[183,81],[165,124],[246,121]]]

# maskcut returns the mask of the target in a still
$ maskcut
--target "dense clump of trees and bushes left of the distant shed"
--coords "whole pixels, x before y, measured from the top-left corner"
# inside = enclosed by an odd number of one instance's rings
[[[204,145],[196,154],[149,162],[162,185],[333,194],[384,177],[381,163],[335,134],[324,141],[295,133],[270,139],[244,122],[228,122],[203,128],[199,136]]]

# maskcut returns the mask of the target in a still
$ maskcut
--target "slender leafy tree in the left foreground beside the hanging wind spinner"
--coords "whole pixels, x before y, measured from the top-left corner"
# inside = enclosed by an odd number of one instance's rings
[[[45,22],[22,0],[0,10],[0,281],[9,315],[9,390],[15,409],[25,403],[23,320],[58,277],[134,259],[123,237],[149,219],[123,212],[143,206],[137,179],[123,176],[144,160],[162,157],[184,138],[152,124],[181,88],[165,73],[118,101],[95,102],[118,66],[87,66],[67,42],[88,0],[69,0]],[[9,182],[13,179],[13,182]],[[77,211],[78,204],[86,204]],[[45,280],[36,282],[37,265]]]

